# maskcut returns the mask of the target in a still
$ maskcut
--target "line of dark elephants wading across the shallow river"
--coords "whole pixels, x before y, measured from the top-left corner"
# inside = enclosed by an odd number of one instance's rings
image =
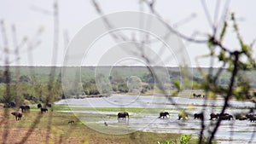
[[[158,118],[167,118],[167,116],[170,116],[169,112],[160,112],[160,116]],[[179,112],[178,113],[178,120],[180,119],[189,119],[189,114],[187,112]],[[119,112],[118,113],[118,119],[122,118],[125,120],[125,118],[129,118],[129,113],[128,112]],[[194,114],[194,119],[201,119],[204,120],[204,115],[203,113],[195,113]],[[233,116],[229,113],[211,113],[210,114],[210,120],[233,120]],[[249,120],[250,122],[255,122],[256,121],[256,114],[246,114],[246,115],[236,115],[236,119],[239,120]]]

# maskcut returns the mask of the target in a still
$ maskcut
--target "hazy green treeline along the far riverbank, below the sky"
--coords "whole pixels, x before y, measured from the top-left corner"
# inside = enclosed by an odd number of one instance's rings
[[[165,89],[175,89],[173,83],[179,81],[183,75],[179,67],[154,67],[154,69],[150,69],[145,66],[81,66],[79,68],[80,81],[73,82],[73,78],[70,77],[70,83],[81,83],[83,92],[74,87],[68,88],[66,86],[64,93],[61,83],[61,71],[63,71],[61,66],[9,66],[8,72],[6,72],[5,66],[1,66],[0,102],[17,100],[21,103],[57,101],[71,96],[108,95],[110,92],[146,93],[150,89],[156,89],[156,81],[164,84]],[[190,68],[190,70],[192,71],[189,71],[189,80],[198,84],[204,81],[204,76],[197,68]],[[217,68],[213,68],[213,72],[217,72],[217,70]],[[207,73],[208,68],[201,68],[201,71]],[[155,75],[158,79],[155,78]],[[224,70],[218,78],[218,84],[228,86],[229,76],[230,73]],[[255,76],[255,71],[241,74],[243,79],[249,79],[253,89],[256,88]]]

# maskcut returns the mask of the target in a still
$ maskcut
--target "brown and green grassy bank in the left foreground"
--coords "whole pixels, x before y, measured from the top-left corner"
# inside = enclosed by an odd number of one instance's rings
[[[55,109],[67,109],[66,106]],[[6,143],[157,143],[157,141],[176,141],[179,134],[156,134],[152,132],[136,131],[126,135],[108,135],[92,130],[76,118],[71,112],[57,111],[40,113],[38,109],[23,114],[20,121],[10,114],[14,109],[0,107],[0,141]],[[99,108],[109,111],[108,108]],[[113,111],[118,109],[112,109]],[[131,108],[133,112],[140,109]],[[84,117],[89,117],[86,113]],[[75,120],[75,124],[67,124],[69,120]],[[103,124],[102,124],[103,125]],[[106,127],[99,125],[99,129]],[[109,130],[116,130],[108,127]],[[15,137],[15,139],[14,139]]]

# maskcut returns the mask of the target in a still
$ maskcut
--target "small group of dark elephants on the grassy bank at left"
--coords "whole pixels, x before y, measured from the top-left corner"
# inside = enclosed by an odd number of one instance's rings
[[[46,104],[46,107],[51,107],[51,104]],[[42,107],[42,104],[40,103],[38,104],[38,109],[39,108],[41,110],[41,113],[48,112],[48,109]],[[21,113],[19,112],[20,109],[21,109]],[[15,116],[16,120],[21,120],[23,112],[30,112],[30,107],[28,105],[20,105],[20,107],[18,108],[18,112],[11,112],[11,114]]]

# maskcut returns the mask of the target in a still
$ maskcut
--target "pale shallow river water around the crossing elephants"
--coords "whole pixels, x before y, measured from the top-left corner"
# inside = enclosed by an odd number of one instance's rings
[[[172,103],[177,105],[171,105]],[[143,130],[153,131],[156,133],[182,133],[192,134],[197,137],[201,130],[201,121],[193,118],[193,113],[200,112],[203,105],[207,106],[222,106],[223,101],[203,101],[202,99],[188,99],[175,97],[172,100],[166,97],[159,96],[134,96],[134,95],[112,95],[102,98],[88,98],[88,99],[67,99],[57,101],[55,104],[68,104],[71,109],[73,107],[143,107],[147,108],[168,108],[170,116],[168,118],[158,118],[159,112],[151,111],[132,113],[130,112],[130,118],[126,120],[117,120],[117,118],[109,117],[108,115],[115,115],[117,112],[99,112],[99,111],[73,111],[77,113],[90,112],[100,114],[98,118],[90,118],[90,121],[86,118],[80,118],[85,124],[96,123],[104,124],[108,123],[109,127],[124,127],[131,130]],[[188,110],[190,113],[188,120],[177,120],[176,108],[187,108],[188,105],[195,105],[193,110]],[[253,107],[254,104],[248,101],[230,101],[230,105],[236,108],[230,108],[226,112],[235,114],[236,112],[248,112],[244,107]],[[216,121],[209,120],[211,112],[219,112],[219,109],[212,109],[212,107],[206,107],[205,113],[207,120],[205,123],[207,127]],[[92,129],[102,131],[103,133],[109,133],[109,131],[100,130],[92,126]],[[222,125],[218,129],[216,139],[220,143],[256,143],[256,138],[252,138],[253,131],[256,131],[256,123],[249,121],[230,120],[222,121]],[[118,131],[118,134],[122,134],[124,131]],[[117,135],[118,135],[117,134]],[[207,133],[205,135],[208,135]]]

